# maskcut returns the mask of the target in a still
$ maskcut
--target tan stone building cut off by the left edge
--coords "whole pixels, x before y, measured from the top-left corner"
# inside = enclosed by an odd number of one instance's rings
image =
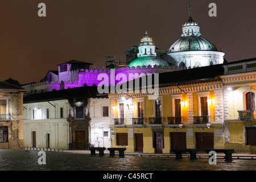
[[[23,149],[23,93],[20,86],[0,82],[0,148]]]

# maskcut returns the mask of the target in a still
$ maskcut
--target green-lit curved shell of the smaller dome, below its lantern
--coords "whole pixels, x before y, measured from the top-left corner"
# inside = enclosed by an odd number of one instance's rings
[[[129,67],[138,67],[138,66],[142,67],[143,65],[145,65],[145,66],[158,65],[158,66],[166,67],[169,64],[166,61],[164,61],[156,56],[139,56],[139,57],[137,57],[137,59],[131,61],[131,63],[128,66]]]

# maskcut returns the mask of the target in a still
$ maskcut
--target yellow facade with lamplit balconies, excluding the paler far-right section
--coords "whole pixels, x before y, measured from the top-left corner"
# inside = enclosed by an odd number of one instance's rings
[[[154,100],[149,93],[109,94],[112,147],[164,154],[173,148],[225,148],[219,78],[162,84]]]

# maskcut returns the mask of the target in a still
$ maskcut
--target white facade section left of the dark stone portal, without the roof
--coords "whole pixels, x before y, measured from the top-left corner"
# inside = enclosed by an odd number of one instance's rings
[[[68,149],[68,100],[23,104],[24,147]]]

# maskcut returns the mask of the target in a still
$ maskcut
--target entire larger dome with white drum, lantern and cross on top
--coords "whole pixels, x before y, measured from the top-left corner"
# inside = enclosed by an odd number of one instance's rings
[[[189,18],[182,25],[181,38],[168,49],[166,61],[169,64],[185,67],[204,67],[223,63],[224,53],[218,51],[209,40],[201,37],[200,26],[191,15],[192,3],[188,3]],[[173,61],[172,59],[175,61]]]

